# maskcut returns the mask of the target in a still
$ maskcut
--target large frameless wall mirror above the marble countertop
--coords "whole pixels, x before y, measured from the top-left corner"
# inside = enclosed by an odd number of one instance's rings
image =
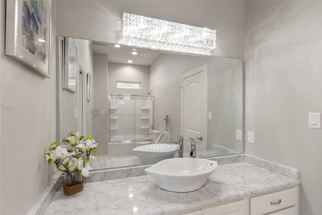
[[[197,142],[197,157],[243,153],[242,60],[143,48],[134,50],[123,45],[116,48],[115,44],[84,39],[74,38],[74,41],[79,62],[77,93],[59,88],[59,138],[77,130],[83,131],[84,135],[92,134],[99,143],[92,164],[94,169],[142,165],[132,149],[143,145],[139,140],[157,135],[152,130],[169,130],[174,144],[178,142],[174,133],[182,133],[184,157],[189,157],[189,138]],[[59,80],[62,80],[62,68],[59,68]],[[91,100],[86,99],[87,74],[92,82]],[[117,88],[120,82],[128,88]],[[115,95],[121,95],[121,98]],[[134,103],[134,97],[129,95],[138,95],[140,104],[146,98],[153,98],[153,108],[149,109],[147,103],[138,107],[138,112],[145,115],[140,115],[136,121],[143,121],[144,126],[142,122],[141,126],[132,129],[133,133],[117,133],[113,129],[121,130],[133,123],[121,123],[122,115],[115,114],[121,112],[117,109],[118,104],[125,103],[129,107],[128,104]],[[144,138],[134,137],[133,140],[133,135]],[[111,136],[122,139],[118,141]],[[130,138],[123,139],[126,136]]]

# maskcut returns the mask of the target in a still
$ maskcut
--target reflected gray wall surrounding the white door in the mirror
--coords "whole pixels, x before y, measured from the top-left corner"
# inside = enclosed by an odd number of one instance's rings
[[[208,149],[216,144],[243,152],[242,142],[235,139],[236,129],[243,129],[243,63],[238,59],[160,55],[150,66],[150,86],[155,96],[155,129],[165,130],[163,119],[169,115],[168,129],[172,133],[181,133],[181,75],[205,63],[208,111],[212,111],[213,117],[208,120]],[[172,136],[173,141],[178,141],[177,138]]]

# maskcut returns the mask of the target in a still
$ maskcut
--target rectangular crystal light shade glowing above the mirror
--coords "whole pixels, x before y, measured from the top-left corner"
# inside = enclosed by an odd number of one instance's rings
[[[134,14],[123,14],[123,38],[205,50],[216,47],[216,31]]]

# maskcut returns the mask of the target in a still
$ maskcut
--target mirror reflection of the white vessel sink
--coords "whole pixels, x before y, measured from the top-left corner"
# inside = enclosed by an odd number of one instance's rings
[[[136,147],[132,152],[139,157],[142,164],[152,164],[173,158],[178,148],[178,145],[173,144],[150,144]]]

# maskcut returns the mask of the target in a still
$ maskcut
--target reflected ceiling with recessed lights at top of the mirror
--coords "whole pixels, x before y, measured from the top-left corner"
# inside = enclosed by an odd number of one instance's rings
[[[93,41],[93,53],[95,54],[107,54],[109,62],[115,63],[125,63],[132,65],[144,65],[150,66],[156,58],[161,54],[160,52],[144,49],[144,48],[135,48],[137,49],[136,55],[133,55],[133,47],[121,45],[120,48],[114,47],[113,43],[105,43]],[[141,54],[148,54],[148,56],[141,56]],[[128,60],[132,60],[132,63],[128,63]]]

